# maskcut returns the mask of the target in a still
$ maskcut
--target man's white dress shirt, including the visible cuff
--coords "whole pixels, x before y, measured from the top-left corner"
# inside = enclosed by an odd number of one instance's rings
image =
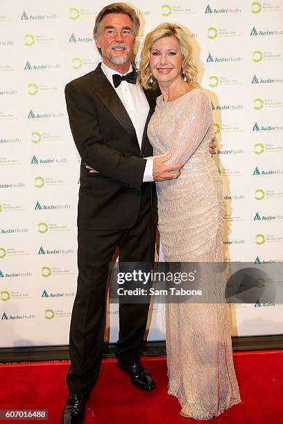
[[[143,89],[137,84],[129,84],[127,81],[121,81],[119,87],[114,87],[112,76],[114,73],[119,73],[114,71],[114,69],[109,68],[102,62],[101,69],[105,73],[106,78],[108,78],[110,84],[117,92],[123,107],[125,107],[132,125],[135,128],[137,134],[137,141],[139,142],[139,148],[141,148],[142,136],[144,134],[144,127],[146,125],[146,118],[149,112],[148,100],[144,94]],[[128,69],[128,72],[132,71],[132,65]],[[119,73],[119,75],[126,75],[125,73]],[[143,182],[153,181],[153,159],[146,160],[146,168],[144,169],[144,178]]]

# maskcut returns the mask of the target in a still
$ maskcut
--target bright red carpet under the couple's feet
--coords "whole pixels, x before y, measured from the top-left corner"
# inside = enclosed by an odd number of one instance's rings
[[[166,394],[166,360],[144,358],[157,388],[144,393],[132,387],[115,360],[104,360],[87,404],[85,424],[197,423],[179,416],[178,400]],[[234,353],[242,402],[213,419],[217,424],[283,423],[283,352]],[[67,398],[68,362],[0,365],[0,409],[48,409],[48,423],[60,424]],[[47,421],[5,421],[46,423]]]

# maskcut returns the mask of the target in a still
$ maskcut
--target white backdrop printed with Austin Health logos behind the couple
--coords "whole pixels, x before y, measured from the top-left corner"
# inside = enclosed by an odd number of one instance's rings
[[[80,157],[64,88],[100,61],[92,30],[105,4],[1,1],[1,347],[68,343]],[[174,21],[191,32],[218,140],[225,260],[282,261],[283,1],[131,4],[141,19],[137,65],[144,35],[157,24]],[[231,306],[231,315],[234,335],[283,333],[279,304],[255,299]],[[164,339],[164,306],[152,306],[150,321],[148,339]],[[115,341],[116,305],[108,324]]]

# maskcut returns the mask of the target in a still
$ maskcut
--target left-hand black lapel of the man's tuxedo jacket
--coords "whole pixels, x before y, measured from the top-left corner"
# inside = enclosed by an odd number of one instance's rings
[[[117,119],[126,132],[128,132],[131,139],[134,139],[137,142],[137,145],[139,145],[135,127],[132,125],[130,116],[123,106],[118,94],[108,81],[108,78],[106,78],[105,73],[102,71],[101,64],[98,64],[98,67],[95,69],[94,76],[94,84],[91,86],[91,89],[95,92],[105,107],[110,110],[114,118]]]

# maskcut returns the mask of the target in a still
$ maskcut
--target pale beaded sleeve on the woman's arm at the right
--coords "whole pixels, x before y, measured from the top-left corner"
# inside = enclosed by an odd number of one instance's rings
[[[212,123],[212,110],[207,96],[197,90],[189,96],[180,110],[180,118],[172,133],[172,157],[168,163],[184,165],[203,141]]]

